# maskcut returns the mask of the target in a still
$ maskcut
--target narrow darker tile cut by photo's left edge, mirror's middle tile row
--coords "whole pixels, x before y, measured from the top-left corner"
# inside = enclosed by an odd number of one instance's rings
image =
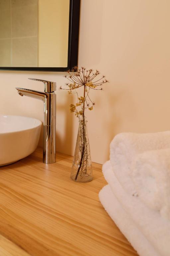
[[[10,38],[10,37],[11,37],[10,9],[0,9],[0,38]]]

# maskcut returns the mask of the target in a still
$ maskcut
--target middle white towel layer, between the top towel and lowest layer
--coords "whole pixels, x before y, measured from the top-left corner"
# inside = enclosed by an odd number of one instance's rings
[[[126,176],[125,172],[125,176]],[[161,256],[170,255],[170,221],[158,211],[149,209],[137,196],[129,196],[116,178],[110,161],[103,165],[103,174],[122,207],[136,227]]]

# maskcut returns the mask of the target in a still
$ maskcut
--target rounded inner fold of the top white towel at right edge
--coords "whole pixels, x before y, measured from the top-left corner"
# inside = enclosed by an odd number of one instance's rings
[[[137,155],[131,174],[140,199],[170,219],[170,148]]]

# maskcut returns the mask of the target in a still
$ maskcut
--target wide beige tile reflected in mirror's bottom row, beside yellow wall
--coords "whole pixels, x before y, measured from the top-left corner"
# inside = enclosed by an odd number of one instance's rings
[[[12,66],[38,66],[37,37],[12,39]]]

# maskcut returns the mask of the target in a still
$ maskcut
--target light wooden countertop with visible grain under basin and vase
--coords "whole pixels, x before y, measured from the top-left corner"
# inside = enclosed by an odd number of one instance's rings
[[[70,179],[72,157],[42,163],[42,149],[0,167],[0,256],[134,256],[102,207],[101,165],[94,180]]]

